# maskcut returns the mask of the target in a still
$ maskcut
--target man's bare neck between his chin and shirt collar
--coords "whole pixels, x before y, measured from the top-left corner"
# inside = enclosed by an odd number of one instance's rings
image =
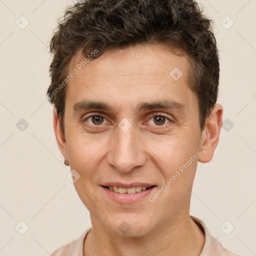
[[[198,256],[204,244],[204,234],[187,214],[174,216],[143,236],[115,235],[91,219],[92,230],[83,246],[83,255],[159,255]],[[157,245],[157,246],[156,246]]]

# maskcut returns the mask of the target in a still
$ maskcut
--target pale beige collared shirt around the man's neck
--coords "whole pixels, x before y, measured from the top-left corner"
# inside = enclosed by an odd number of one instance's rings
[[[222,244],[210,234],[201,219],[191,215],[190,217],[200,227],[205,235],[205,241],[200,256],[240,256],[224,248]],[[91,229],[92,227],[84,231],[77,239],[74,239],[54,250],[51,256],[83,256],[83,242]]]

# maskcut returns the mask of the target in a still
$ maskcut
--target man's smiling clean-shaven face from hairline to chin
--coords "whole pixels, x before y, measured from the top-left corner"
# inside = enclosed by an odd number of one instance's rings
[[[92,224],[143,235],[188,214],[207,137],[188,68],[186,56],[137,45],[105,52],[68,83],[65,134],[57,118],[54,127]]]

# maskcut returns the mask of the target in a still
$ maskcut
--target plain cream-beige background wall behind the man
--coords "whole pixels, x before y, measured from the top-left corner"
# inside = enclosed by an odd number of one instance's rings
[[[200,3],[215,20],[221,64],[218,102],[224,107],[223,120],[228,118],[233,127],[221,129],[212,161],[198,165],[191,214],[203,219],[225,247],[252,256],[256,253],[256,1]],[[47,46],[67,4],[71,1],[0,0],[0,255],[49,255],[90,227],[89,213],[66,178],[69,167],[58,151],[52,107],[45,97]],[[24,29],[15,23],[25,24],[21,15],[29,21]],[[16,127],[21,118],[29,124],[23,131]],[[25,230],[21,220],[29,226],[23,235],[17,231]],[[234,226],[229,234],[220,228],[226,220]]]

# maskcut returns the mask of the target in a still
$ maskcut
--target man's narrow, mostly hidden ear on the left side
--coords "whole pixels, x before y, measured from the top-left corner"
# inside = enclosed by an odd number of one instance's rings
[[[53,107],[53,127],[54,127],[58,148],[62,153],[62,155],[64,156],[64,164],[68,166],[69,162],[67,157],[67,146],[66,146],[65,135],[60,127],[60,121],[59,121],[59,118],[57,115],[57,109],[55,106]]]

